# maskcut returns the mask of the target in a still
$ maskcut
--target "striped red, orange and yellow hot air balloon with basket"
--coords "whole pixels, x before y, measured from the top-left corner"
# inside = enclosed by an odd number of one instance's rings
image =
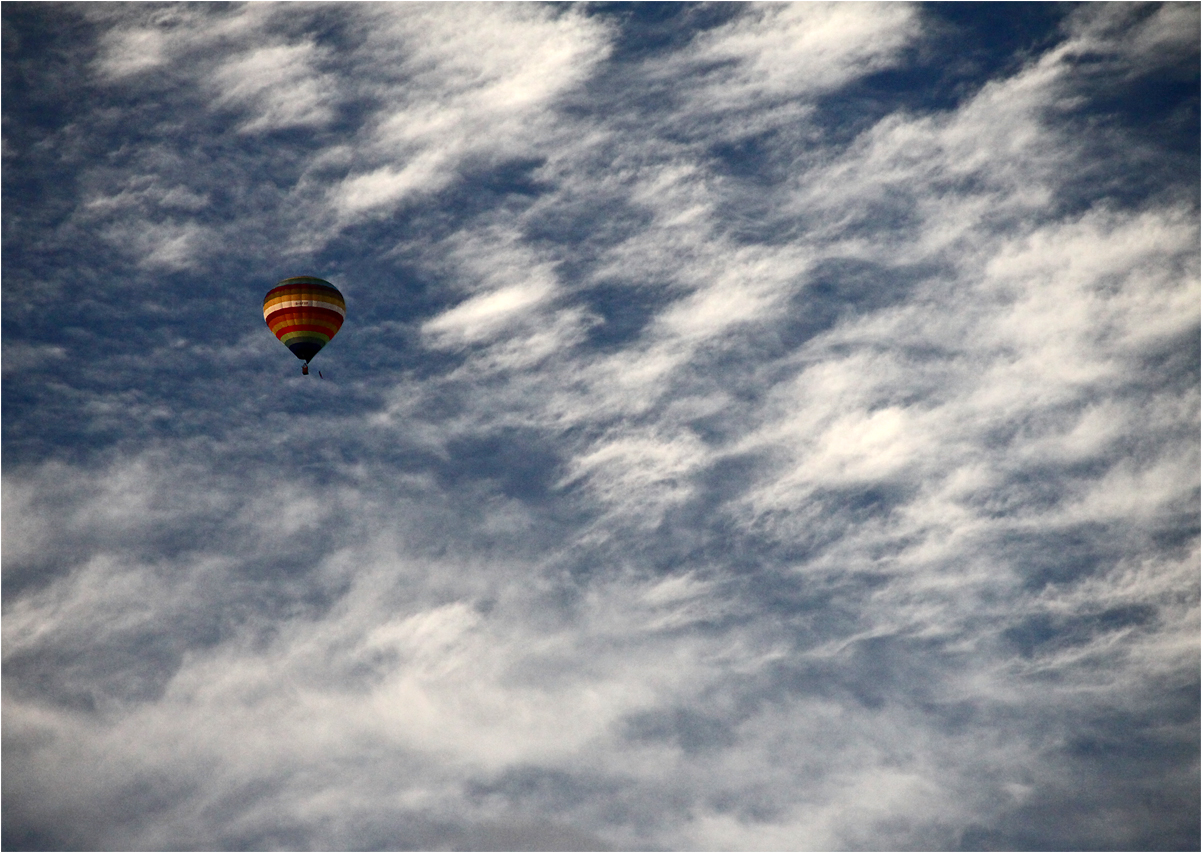
[[[304,362],[300,372],[309,375],[309,362],[343,328],[346,300],[323,279],[297,275],[284,279],[263,297],[263,320],[280,342]]]

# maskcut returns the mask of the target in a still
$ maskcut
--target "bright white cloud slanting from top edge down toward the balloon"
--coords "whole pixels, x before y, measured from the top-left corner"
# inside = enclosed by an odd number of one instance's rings
[[[547,111],[608,52],[605,28],[576,10],[377,7],[363,25],[364,77],[381,109],[359,166],[332,190],[343,223],[442,189],[468,157],[537,148]]]

